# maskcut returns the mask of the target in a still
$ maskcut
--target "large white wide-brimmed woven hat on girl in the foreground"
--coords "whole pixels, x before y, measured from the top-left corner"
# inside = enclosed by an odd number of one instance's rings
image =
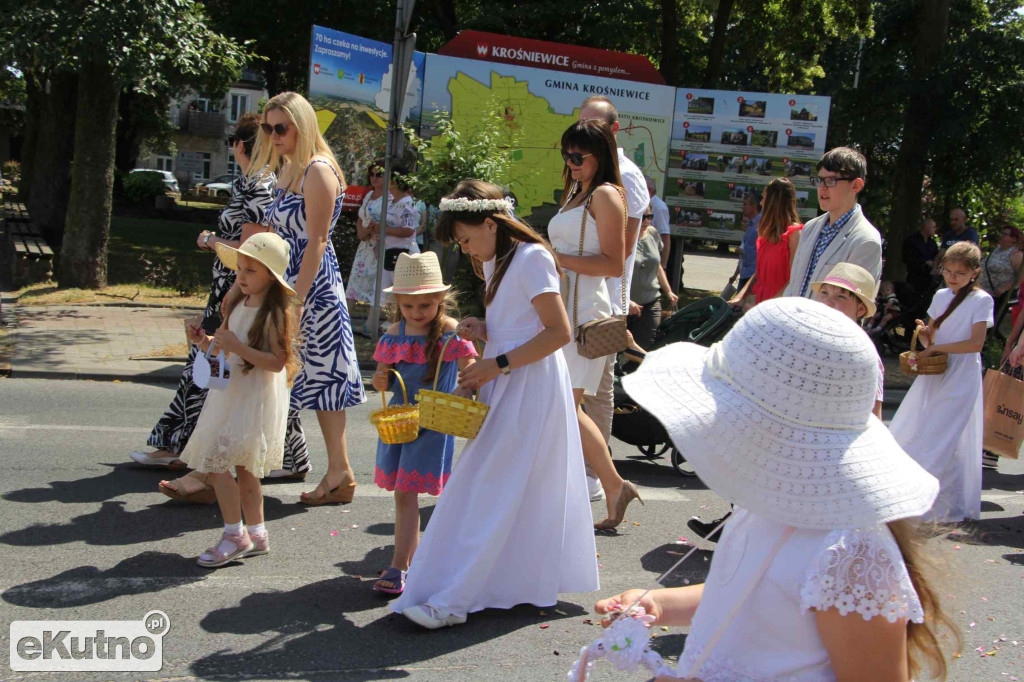
[[[711,348],[675,343],[623,379],[710,488],[800,528],[921,516],[939,483],[873,415],[878,353],[805,298],[754,307]]]

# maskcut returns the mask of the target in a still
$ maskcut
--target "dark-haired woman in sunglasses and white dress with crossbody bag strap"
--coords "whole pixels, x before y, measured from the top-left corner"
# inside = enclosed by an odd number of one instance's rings
[[[626,199],[618,175],[618,153],[611,128],[600,119],[578,121],[562,133],[565,187],[562,207],[548,223],[551,246],[558,254],[562,301],[568,311],[573,337],[579,327],[611,316],[606,278],[622,278],[623,309],[626,299]],[[626,507],[640,494],[636,485],[615,471],[611,453],[593,420],[583,411],[585,393],[596,394],[605,358],[586,358],[573,339],[562,348],[572,381],[577,419],[584,459],[594,469],[605,492],[608,516],[595,527],[618,526]],[[641,501],[642,502],[642,501]]]

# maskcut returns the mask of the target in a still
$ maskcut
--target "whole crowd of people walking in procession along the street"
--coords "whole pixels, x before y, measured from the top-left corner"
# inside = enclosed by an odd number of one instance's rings
[[[391,404],[401,404],[400,377],[414,403],[423,389],[475,393],[489,411],[458,463],[455,438],[440,431],[378,443],[374,482],[393,492],[395,524],[391,564],[373,589],[428,629],[599,589],[595,530],[613,531],[630,504],[642,504],[608,447],[615,355],[649,343],[663,302],[677,300],[665,273],[667,207],[617,131],[609,100],[583,102],[560,139],[564,186],[547,237],[481,180],[465,179],[440,202],[434,238],[457,245],[483,281],[485,316],[460,321],[436,254],[417,243],[426,212],[406,169],[384,187],[383,164],[371,168],[346,289],[330,240],[345,181],[312,106],[283,93],[261,118],[240,122],[230,141],[245,173],[218,233],[200,237],[217,254],[210,301],[187,323],[194,348],[151,436],[157,450],[132,454],[191,469],[162,481],[165,495],[219,505],[223,528],[201,565],[268,553],[260,478],[309,472],[300,410],[316,412],[328,452],[300,503],[354,499],[345,410],[367,395],[348,305],[376,287],[383,221],[381,293],[393,317],[374,353],[373,387],[394,389]],[[1006,230],[983,259],[961,212],[941,248],[934,223],[908,240],[907,257],[925,258],[908,276],[925,283],[927,267],[945,285],[916,322],[920,356],[945,353],[949,367],[918,378],[886,427],[884,366],[865,325],[901,312],[892,287],[879,286],[882,238],[857,202],[865,178],[858,152],[827,152],[811,176],[823,213],[803,225],[790,180],[772,180],[760,201],[746,197],[733,299],[746,312],[711,348],[669,345],[623,380],[735,505],[707,583],[642,601],[652,623],[691,626],[666,679],[905,682],[945,671],[936,633],[949,621],[918,524],[980,515],[979,351],[992,295],[1016,284],[1019,235]],[[1024,315],[1015,322],[1024,327]],[[205,389],[215,350],[230,378]],[[1008,366],[1022,354],[1015,339]],[[438,498],[422,538],[420,495]],[[601,499],[606,514],[595,522],[590,503]],[[711,536],[723,521],[693,523]],[[639,596],[596,609],[611,622]]]

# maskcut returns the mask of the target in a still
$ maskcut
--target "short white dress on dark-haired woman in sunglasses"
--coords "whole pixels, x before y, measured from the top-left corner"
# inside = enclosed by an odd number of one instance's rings
[[[568,211],[559,210],[558,213],[548,223],[548,239],[551,246],[558,253],[570,256],[580,254],[580,222],[583,217],[584,206],[578,206]],[[583,255],[595,256],[601,253],[601,240],[597,235],[597,221],[590,213],[587,214],[587,227],[584,231]],[[585,393],[594,395],[601,385],[601,376],[604,373],[605,357],[588,359],[577,352],[575,330],[584,323],[594,319],[603,319],[611,316],[611,302],[608,299],[608,290],[605,287],[604,278],[592,276],[589,274],[578,274],[572,270],[563,269],[564,276],[561,281],[562,301],[565,303],[565,310],[569,315],[569,324],[573,325],[573,339],[562,348],[565,355],[565,364],[569,368],[569,377],[572,380],[572,388],[582,388]],[[572,318],[572,303],[577,286],[580,282],[580,299],[577,317]],[[618,280],[621,283],[622,280]],[[618,292],[622,297],[622,292]],[[573,324],[574,323],[574,324]]]

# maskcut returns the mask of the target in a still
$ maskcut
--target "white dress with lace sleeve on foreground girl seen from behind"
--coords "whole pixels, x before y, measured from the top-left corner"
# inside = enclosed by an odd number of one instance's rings
[[[728,621],[695,677],[702,682],[830,682],[828,651],[815,610],[835,606],[851,619],[922,623],[925,613],[888,526],[845,530],[797,529],[734,615],[786,526],[740,507],[722,530],[700,605],[676,671],[696,663]]]

